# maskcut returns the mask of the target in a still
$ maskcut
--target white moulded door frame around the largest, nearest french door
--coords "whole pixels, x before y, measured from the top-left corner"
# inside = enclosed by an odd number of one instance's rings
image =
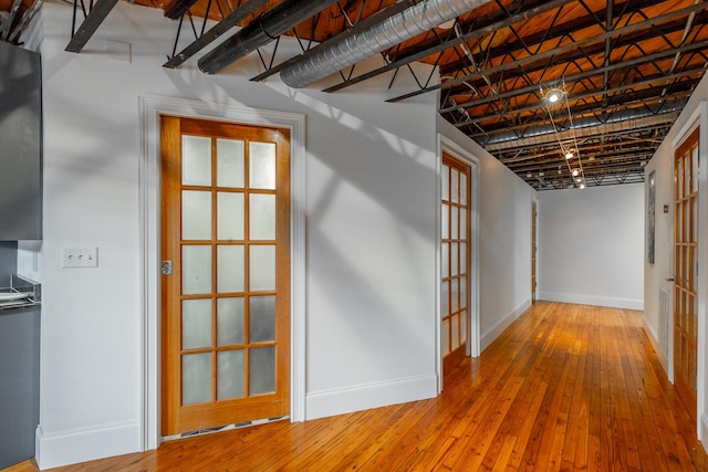
[[[155,449],[160,437],[160,116],[219,119],[249,126],[290,129],[290,290],[291,375],[290,418],[305,419],[305,117],[181,98],[139,97],[139,238],[143,317],[140,346],[140,447]]]

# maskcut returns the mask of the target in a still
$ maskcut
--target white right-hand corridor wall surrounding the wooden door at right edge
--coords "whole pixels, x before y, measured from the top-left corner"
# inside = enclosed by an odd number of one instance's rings
[[[646,263],[645,273],[645,325],[657,352],[660,352],[657,337],[662,332],[659,324],[659,287],[667,289],[673,296],[673,283],[667,281],[674,276],[674,151],[680,145],[683,138],[695,126],[700,123],[700,159],[701,162],[708,160],[708,120],[706,113],[700,113],[701,106],[708,99],[708,76],[699,82],[688,101],[680,116],[666,135],[666,138],[657,149],[656,154],[646,166],[647,175],[656,171],[656,253],[655,263]],[[702,167],[702,164],[701,164]],[[708,273],[708,248],[701,244],[706,241],[705,234],[708,232],[708,183],[706,172],[700,174],[699,188],[699,274]],[[669,212],[663,213],[664,204],[668,204]],[[708,349],[706,340],[708,337],[708,323],[705,323],[708,313],[706,296],[708,289],[708,277],[700,275],[698,287],[698,433],[704,445],[708,448],[708,378],[706,375],[708,366]],[[673,302],[669,303],[673,307]],[[669,323],[673,326],[673,319]],[[669,331],[670,333],[670,331]],[[673,378],[673,339],[668,336],[669,346],[666,353],[663,353],[663,363],[665,369]]]

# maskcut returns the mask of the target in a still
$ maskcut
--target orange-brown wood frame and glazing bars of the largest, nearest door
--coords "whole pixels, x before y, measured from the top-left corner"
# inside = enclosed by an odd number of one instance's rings
[[[178,125],[175,125],[175,122]],[[169,126],[178,126],[179,133],[175,134],[174,130],[168,129]],[[217,138],[238,138],[249,141],[268,141],[275,144],[277,150],[277,188],[278,190],[259,190],[251,189],[248,183],[248,167],[244,167],[244,187],[240,189],[220,188],[216,186],[216,181],[211,186],[194,187],[184,186],[180,181],[181,165],[178,160],[169,160],[170,164],[165,165],[164,177],[171,179],[171,181],[163,181],[163,199],[165,203],[165,211],[163,218],[164,231],[163,231],[163,258],[173,260],[174,273],[164,283],[164,296],[163,296],[163,335],[166,336],[163,343],[164,363],[163,363],[163,434],[171,436],[178,432],[186,432],[192,430],[201,430],[205,428],[211,428],[216,426],[225,426],[228,423],[240,422],[246,420],[253,420],[267,417],[281,417],[289,415],[290,412],[290,345],[291,345],[291,297],[290,297],[290,133],[288,129],[280,128],[267,128],[267,127],[253,127],[237,125],[231,123],[223,123],[217,120],[201,120],[191,118],[171,118],[166,117],[164,120],[165,139],[175,139],[175,143],[164,144],[166,151],[177,150],[179,156],[179,148],[181,141],[181,135],[194,136],[207,136],[211,138],[212,150],[216,147]],[[236,135],[235,135],[236,133]],[[246,146],[246,162],[248,162],[248,145]],[[212,153],[216,156],[215,153]],[[216,176],[216,159],[211,161],[212,176]],[[175,183],[177,182],[177,183]],[[194,187],[194,188],[192,188]],[[180,234],[180,189],[211,189],[210,191],[216,197],[217,193],[223,191],[231,191],[236,193],[244,195],[244,239],[239,241],[221,241],[218,240],[217,222],[216,222],[216,198],[212,198],[212,231],[211,239],[205,241],[197,241],[199,244],[211,245],[212,258],[212,293],[206,298],[204,295],[190,296],[180,295],[181,284],[181,247],[191,244],[192,241],[183,241],[180,238],[169,238],[167,234]],[[171,193],[168,193],[171,192]],[[277,216],[275,240],[259,241],[249,240],[249,195],[274,195]],[[175,197],[171,197],[175,196]],[[275,249],[275,290],[267,292],[243,292],[243,293],[218,293],[216,289],[217,281],[217,252],[218,248],[222,245],[241,245],[244,250],[246,268],[249,266],[250,251],[249,248],[258,245],[273,245]],[[249,270],[244,271],[244,286],[249,286]],[[216,336],[216,303],[215,301],[221,296],[243,296],[244,300],[244,322],[246,333],[248,336],[248,318],[249,306],[248,297],[250,295],[275,295],[275,312],[277,312],[277,325],[275,325],[275,342],[268,343],[247,343],[243,346],[231,346],[230,348],[243,349],[243,363],[246,369],[249,368],[249,353],[251,348],[273,346],[275,347],[275,390],[274,394],[248,394],[249,390],[249,375],[244,376],[244,389],[247,398],[233,399],[233,400],[218,400],[216,398],[217,391],[217,353],[226,349],[226,347],[217,347],[206,349],[190,349],[189,354],[197,353],[210,353],[212,356],[212,402],[197,403],[180,406],[181,391],[181,357],[187,352],[181,350],[181,325],[178,317],[170,314],[179,314],[181,311],[181,300],[187,298],[205,298],[212,300],[212,339],[217,339]],[[247,370],[248,371],[248,370]],[[177,395],[177,397],[175,397]],[[225,412],[229,415],[225,415]],[[225,418],[229,418],[225,421]]]

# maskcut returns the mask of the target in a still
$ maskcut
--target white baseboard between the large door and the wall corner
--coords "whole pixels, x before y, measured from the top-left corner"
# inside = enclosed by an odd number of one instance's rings
[[[436,396],[437,378],[435,374],[407,377],[308,394],[305,415],[308,420],[314,420],[389,405],[426,400]]]

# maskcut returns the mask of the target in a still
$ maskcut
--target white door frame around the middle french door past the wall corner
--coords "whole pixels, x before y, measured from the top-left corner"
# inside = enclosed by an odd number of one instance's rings
[[[470,151],[462,148],[452,139],[438,133],[438,149],[436,159],[436,260],[435,260],[435,273],[436,273],[436,287],[435,287],[435,353],[436,353],[436,376],[438,379],[438,394],[442,391],[442,346],[440,343],[441,336],[441,319],[442,313],[440,311],[440,283],[442,280],[442,268],[440,264],[440,248],[442,244],[442,232],[440,229],[440,206],[442,203],[442,186],[440,182],[442,174],[442,151],[449,154],[457,160],[467,164],[470,167],[469,191],[470,191],[470,218],[469,218],[469,238],[470,241],[470,265],[469,265],[469,279],[470,285],[467,287],[469,293],[470,306],[468,310],[467,319],[467,356],[478,357],[481,350],[481,327],[479,317],[479,159],[475,157]]]

